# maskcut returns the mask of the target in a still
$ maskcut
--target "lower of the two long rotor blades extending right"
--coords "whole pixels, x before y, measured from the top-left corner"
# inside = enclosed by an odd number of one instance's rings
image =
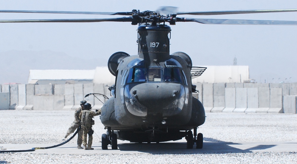
[[[237,19],[199,19],[181,18],[178,22],[197,22],[203,24],[225,24],[225,25],[297,25],[297,21],[286,20],[237,20]]]

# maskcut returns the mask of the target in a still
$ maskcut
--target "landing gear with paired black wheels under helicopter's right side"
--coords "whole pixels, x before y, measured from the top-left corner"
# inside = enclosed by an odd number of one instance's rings
[[[202,149],[203,147],[203,134],[198,133],[197,127],[194,128],[194,136],[192,130],[186,131],[187,149],[193,149],[193,145],[196,142],[196,149]]]

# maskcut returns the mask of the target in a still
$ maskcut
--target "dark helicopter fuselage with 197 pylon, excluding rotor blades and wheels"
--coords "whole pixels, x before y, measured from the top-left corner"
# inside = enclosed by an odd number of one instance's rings
[[[191,130],[205,121],[202,104],[192,97],[187,61],[169,54],[170,31],[166,25],[139,26],[138,55],[117,61],[114,96],[103,105],[101,121],[117,130],[120,139],[146,141],[147,137],[131,139],[128,131],[170,134]],[[181,139],[181,135],[165,138]]]

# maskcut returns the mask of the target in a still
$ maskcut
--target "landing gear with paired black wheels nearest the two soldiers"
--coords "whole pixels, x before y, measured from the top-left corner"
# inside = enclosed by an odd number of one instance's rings
[[[103,150],[108,149],[108,144],[111,145],[111,149],[118,149],[117,135],[116,133],[113,133],[113,130],[111,131],[110,127],[107,128],[106,134],[102,134],[101,144]]]

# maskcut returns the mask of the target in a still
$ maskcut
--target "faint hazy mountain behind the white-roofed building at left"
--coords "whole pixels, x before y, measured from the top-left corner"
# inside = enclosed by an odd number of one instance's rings
[[[82,56],[83,57],[83,56]],[[96,69],[107,66],[107,61],[99,58],[75,58],[63,52],[45,51],[6,51],[0,52],[0,84],[27,84],[30,69]]]

